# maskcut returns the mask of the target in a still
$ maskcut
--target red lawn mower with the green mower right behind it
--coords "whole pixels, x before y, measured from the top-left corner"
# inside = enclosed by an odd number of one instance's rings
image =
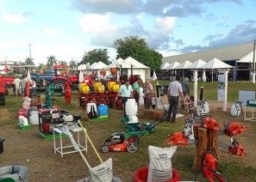
[[[147,124],[147,126],[138,123],[136,127],[138,127],[140,130],[137,132],[134,132],[134,130],[131,133],[128,133],[129,135],[124,134],[122,132],[120,133],[113,133],[108,137],[103,146],[102,151],[103,153],[107,153],[109,151],[112,152],[126,152],[129,153],[135,153],[139,149],[139,143],[140,143],[140,137],[144,136],[146,133],[154,130],[155,125],[162,123],[166,117],[167,114],[157,114],[154,115],[156,118],[154,121],[150,124]],[[125,139],[125,137],[128,137],[128,140]]]

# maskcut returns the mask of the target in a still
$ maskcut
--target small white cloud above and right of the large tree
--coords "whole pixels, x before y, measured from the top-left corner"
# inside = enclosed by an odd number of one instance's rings
[[[163,33],[170,33],[175,25],[176,17],[168,16],[165,18],[157,18],[154,28]]]

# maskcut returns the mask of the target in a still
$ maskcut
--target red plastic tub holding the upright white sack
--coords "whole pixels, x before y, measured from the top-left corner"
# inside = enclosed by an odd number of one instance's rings
[[[134,173],[134,182],[147,182],[148,167],[141,167]],[[166,182],[180,181],[179,173],[176,169],[172,168],[172,179]]]

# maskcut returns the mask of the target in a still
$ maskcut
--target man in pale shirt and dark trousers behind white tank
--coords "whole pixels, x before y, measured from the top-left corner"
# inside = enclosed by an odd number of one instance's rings
[[[122,86],[120,87],[119,89],[119,92],[118,92],[121,97],[122,97],[122,103],[123,103],[123,109],[124,109],[124,112],[123,112],[123,116],[124,118],[126,118],[126,112],[125,112],[125,104],[127,102],[127,100],[131,97],[133,97],[132,93],[133,93],[133,88],[132,86],[130,85],[130,82],[128,81],[128,79],[125,79],[124,80],[124,83],[122,84]],[[118,99],[118,95],[119,94],[116,94],[116,100]]]

